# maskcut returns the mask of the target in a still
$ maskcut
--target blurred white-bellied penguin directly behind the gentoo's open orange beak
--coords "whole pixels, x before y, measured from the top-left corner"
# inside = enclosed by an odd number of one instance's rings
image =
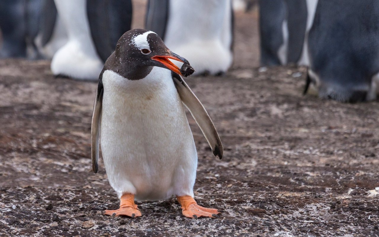
[[[149,0],[146,29],[157,32],[167,47],[191,61],[194,75],[223,74],[232,64],[230,0]]]

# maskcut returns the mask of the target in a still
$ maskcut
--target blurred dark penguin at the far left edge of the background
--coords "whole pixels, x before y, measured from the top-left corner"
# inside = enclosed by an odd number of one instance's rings
[[[33,40],[42,5],[41,0],[0,1],[0,58],[40,58]]]

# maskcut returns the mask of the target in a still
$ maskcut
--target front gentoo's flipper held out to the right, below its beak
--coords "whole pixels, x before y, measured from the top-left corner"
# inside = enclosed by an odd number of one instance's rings
[[[196,95],[179,74],[172,72],[171,75],[180,99],[182,99],[183,104],[188,108],[197,125],[199,125],[212,149],[213,155],[218,156],[221,160],[224,150],[215,125],[209,117],[207,110],[205,110],[200,100],[197,99]]]

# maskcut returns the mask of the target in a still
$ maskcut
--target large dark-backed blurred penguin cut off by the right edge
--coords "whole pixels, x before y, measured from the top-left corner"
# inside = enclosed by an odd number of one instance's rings
[[[307,86],[320,98],[360,102],[376,98],[379,2],[319,0],[308,35]],[[307,86],[305,92],[307,90]]]

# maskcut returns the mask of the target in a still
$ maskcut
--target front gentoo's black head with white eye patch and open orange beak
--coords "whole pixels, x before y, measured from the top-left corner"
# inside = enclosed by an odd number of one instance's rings
[[[121,36],[116,50],[106,60],[104,68],[115,71],[130,80],[146,77],[153,66],[163,67],[182,75],[179,67],[169,59],[189,65],[185,58],[171,52],[153,31],[134,29]]]

